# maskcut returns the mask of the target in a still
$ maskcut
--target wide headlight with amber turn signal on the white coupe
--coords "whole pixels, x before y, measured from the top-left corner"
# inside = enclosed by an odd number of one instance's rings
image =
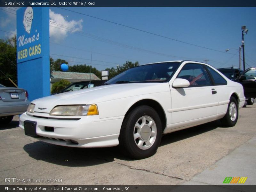
[[[97,105],[65,105],[52,109],[50,115],[58,116],[88,116],[99,115]]]

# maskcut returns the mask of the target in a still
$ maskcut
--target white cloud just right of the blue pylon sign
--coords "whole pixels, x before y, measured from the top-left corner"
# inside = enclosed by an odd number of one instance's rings
[[[65,20],[61,14],[54,13],[50,9],[50,37],[51,40],[59,42],[68,36],[68,33],[75,33],[81,31],[83,20]]]

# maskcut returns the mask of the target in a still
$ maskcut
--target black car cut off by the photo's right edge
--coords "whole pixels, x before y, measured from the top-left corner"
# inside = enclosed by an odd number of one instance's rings
[[[246,69],[235,81],[243,85],[247,105],[252,105],[256,98],[256,67]]]

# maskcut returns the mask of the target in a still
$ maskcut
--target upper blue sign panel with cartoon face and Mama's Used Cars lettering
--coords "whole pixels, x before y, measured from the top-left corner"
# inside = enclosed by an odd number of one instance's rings
[[[17,62],[42,57],[41,9],[24,7],[17,13]]]

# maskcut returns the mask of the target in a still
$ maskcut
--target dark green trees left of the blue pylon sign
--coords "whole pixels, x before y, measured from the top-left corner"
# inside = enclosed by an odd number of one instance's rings
[[[0,83],[14,87],[10,78],[17,84],[17,51],[16,36],[0,39]],[[4,73],[4,74],[3,74]]]

